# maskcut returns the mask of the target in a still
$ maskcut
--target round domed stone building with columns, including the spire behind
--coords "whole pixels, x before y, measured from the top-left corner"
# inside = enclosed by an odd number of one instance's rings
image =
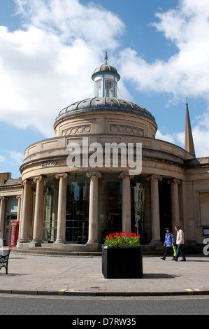
[[[175,225],[187,244],[208,235],[209,158],[195,157],[188,104],[185,149],[156,139],[152,114],[117,98],[120,75],[107,60],[92,75],[94,97],[62,109],[55,137],[25,151],[17,249],[100,251],[123,230],[154,251]]]

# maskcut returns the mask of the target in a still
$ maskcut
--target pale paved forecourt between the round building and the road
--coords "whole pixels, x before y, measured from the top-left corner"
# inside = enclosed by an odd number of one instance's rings
[[[187,256],[187,255],[186,255]],[[0,293],[28,295],[209,295],[209,257],[186,262],[143,256],[143,278],[105,279],[101,256],[10,253],[0,271]]]

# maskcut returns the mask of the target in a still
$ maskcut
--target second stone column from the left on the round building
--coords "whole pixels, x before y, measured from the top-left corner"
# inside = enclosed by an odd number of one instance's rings
[[[36,182],[36,201],[34,209],[34,232],[30,247],[41,246],[43,239],[43,211],[44,211],[44,185],[45,176],[35,177]]]

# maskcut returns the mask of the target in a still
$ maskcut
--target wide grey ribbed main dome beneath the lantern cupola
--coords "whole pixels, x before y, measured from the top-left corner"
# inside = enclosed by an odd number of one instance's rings
[[[155,123],[155,118],[145,108],[124,99],[115,97],[94,97],[83,99],[80,102],[75,102],[59,112],[55,122],[67,118],[76,113],[91,112],[91,111],[118,111],[136,114],[152,120]]]

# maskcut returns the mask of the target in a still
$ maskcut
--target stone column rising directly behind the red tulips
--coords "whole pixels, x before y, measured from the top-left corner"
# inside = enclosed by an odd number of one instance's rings
[[[122,231],[131,233],[131,186],[130,176],[127,172],[122,172],[119,176],[122,179]]]

